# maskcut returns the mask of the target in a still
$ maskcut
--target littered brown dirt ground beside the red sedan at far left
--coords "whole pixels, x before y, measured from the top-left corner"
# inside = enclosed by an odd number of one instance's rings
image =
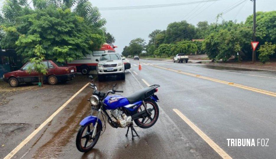
[[[19,87],[11,87],[8,83],[4,82],[3,80],[0,80],[0,106],[5,105],[9,103],[9,101],[6,99],[9,96],[16,95],[22,92],[27,92],[30,90],[39,90],[47,87],[47,85],[44,85],[44,87],[38,87],[36,84],[33,85],[27,85],[27,84],[20,84]]]

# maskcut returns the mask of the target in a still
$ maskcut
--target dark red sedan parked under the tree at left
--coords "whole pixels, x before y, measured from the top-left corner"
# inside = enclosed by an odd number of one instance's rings
[[[43,76],[43,82],[48,82],[50,85],[70,81],[77,73],[75,66],[65,66],[66,64],[55,63],[51,60],[45,60],[43,63],[47,67],[47,74]],[[11,87],[17,87],[19,83],[38,82],[38,73],[34,70],[29,73],[27,70],[29,66],[32,66],[32,63],[28,62],[17,71],[4,74],[3,80],[8,82]]]

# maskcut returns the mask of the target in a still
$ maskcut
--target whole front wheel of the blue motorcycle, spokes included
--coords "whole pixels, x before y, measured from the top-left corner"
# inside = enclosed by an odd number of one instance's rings
[[[76,138],[76,146],[80,152],[88,152],[96,145],[101,135],[100,125],[97,125],[95,137],[91,138],[93,130],[92,123],[80,127]]]

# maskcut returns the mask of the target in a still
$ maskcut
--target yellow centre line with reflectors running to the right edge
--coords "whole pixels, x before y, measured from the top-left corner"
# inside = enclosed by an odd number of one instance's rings
[[[239,84],[236,84],[236,83],[233,83],[233,82],[226,82],[226,81],[222,81],[222,80],[217,80],[217,79],[214,79],[214,78],[204,77],[204,76],[200,76],[200,75],[197,75],[197,74],[183,72],[183,71],[170,69],[170,68],[166,68],[166,67],[161,67],[161,66],[157,66],[157,65],[153,65],[153,64],[151,64],[151,66],[161,68],[161,69],[165,69],[165,70],[169,70],[169,71],[173,71],[173,72],[177,72],[177,73],[181,73],[181,74],[186,74],[186,75],[189,75],[189,76],[202,78],[202,79],[205,79],[205,80],[219,82],[219,83],[227,84],[229,86],[239,87],[239,88],[242,88],[242,89],[245,89],[245,90],[250,90],[250,91],[253,91],[253,92],[258,92],[258,93],[262,93],[262,94],[265,94],[265,95],[270,95],[270,96],[276,97],[276,92],[270,92],[270,91],[266,91],[266,90],[257,89],[257,88],[254,88],[254,87],[239,85]]]

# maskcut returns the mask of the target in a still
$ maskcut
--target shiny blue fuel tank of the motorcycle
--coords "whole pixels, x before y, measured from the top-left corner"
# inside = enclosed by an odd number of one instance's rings
[[[126,97],[119,95],[109,95],[104,99],[104,104],[106,104],[106,109],[117,109],[129,104]]]

